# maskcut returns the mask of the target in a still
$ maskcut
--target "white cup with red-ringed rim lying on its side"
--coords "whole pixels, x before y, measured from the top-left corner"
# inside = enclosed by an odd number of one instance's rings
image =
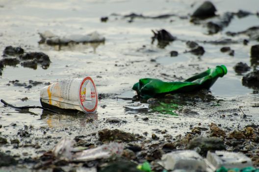
[[[42,106],[48,104],[84,113],[95,113],[98,105],[96,87],[90,77],[65,79],[45,86],[40,91],[40,100]]]

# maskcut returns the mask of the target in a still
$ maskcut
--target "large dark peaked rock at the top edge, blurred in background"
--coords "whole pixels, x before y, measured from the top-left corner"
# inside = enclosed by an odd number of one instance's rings
[[[210,1],[203,2],[192,14],[192,17],[207,18],[215,16],[216,8]]]

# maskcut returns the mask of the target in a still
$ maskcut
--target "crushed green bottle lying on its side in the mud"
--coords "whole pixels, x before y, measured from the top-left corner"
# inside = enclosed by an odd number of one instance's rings
[[[137,91],[140,98],[144,99],[161,97],[166,94],[193,92],[209,89],[219,77],[223,77],[227,72],[227,67],[220,65],[194,75],[183,82],[163,82],[159,79],[144,78],[134,84],[132,89]]]

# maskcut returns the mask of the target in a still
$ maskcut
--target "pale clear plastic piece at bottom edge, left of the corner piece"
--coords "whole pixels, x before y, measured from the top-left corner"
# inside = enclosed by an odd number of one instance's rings
[[[206,162],[194,150],[178,150],[166,153],[158,163],[166,170],[207,171]]]

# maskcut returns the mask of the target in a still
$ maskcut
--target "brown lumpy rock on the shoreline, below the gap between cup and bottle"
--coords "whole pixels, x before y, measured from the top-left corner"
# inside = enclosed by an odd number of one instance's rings
[[[136,138],[133,134],[127,133],[118,129],[115,130],[109,130],[104,129],[98,131],[99,140],[101,142],[105,141],[123,141],[123,142],[132,142],[135,141]]]

